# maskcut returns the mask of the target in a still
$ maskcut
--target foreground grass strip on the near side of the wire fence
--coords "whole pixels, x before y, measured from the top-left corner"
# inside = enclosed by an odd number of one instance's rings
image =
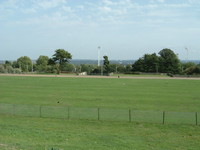
[[[199,126],[0,115],[1,150],[198,150]]]

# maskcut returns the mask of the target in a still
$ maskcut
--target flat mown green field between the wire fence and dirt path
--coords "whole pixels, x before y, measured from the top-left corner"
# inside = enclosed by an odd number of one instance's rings
[[[1,76],[0,83],[0,103],[200,111],[200,80]]]

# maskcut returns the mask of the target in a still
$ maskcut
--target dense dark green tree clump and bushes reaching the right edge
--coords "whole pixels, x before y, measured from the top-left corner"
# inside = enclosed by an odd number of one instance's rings
[[[158,55],[144,54],[132,65],[133,72],[168,73],[168,74],[200,74],[200,64],[182,63],[173,50],[162,49]]]

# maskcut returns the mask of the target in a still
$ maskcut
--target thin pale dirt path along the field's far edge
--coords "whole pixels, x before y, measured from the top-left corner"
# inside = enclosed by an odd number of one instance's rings
[[[179,79],[200,80],[194,77],[134,77],[134,76],[81,76],[81,75],[38,75],[38,74],[0,74],[0,76],[22,76],[22,77],[62,77],[62,78],[119,78],[119,79]]]

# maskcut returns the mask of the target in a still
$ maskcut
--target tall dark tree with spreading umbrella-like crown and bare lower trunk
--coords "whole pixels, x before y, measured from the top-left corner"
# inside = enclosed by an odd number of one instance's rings
[[[55,54],[53,55],[52,60],[56,63],[58,62],[58,74],[62,71],[62,67],[64,64],[68,63],[69,60],[72,59],[72,55],[65,51],[64,49],[55,50]]]

